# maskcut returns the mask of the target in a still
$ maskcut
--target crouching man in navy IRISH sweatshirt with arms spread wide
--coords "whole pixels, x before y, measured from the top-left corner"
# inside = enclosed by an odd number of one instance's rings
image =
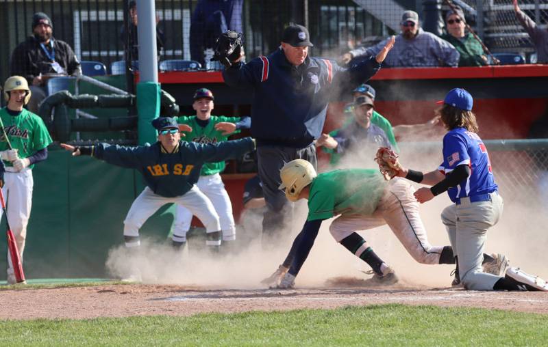
[[[179,124],[171,117],[160,117],[152,125],[158,130],[158,142],[153,145],[123,147],[98,143],[74,147],[61,144],[73,156],[88,155],[109,164],[140,171],[145,190],[135,199],[124,220],[125,246],[140,246],[140,227],[165,204],[175,203],[188,208],[206,227],[206,245],[221,246],[219,215],[208,197],[195,185],[204,163],[216,163],[242,156],[255,148],[251,137],[217,144],[181,141]],[[173,245],[183,247],[185,238],[173,235]],[[138,271],[130,275],[140,277]]]

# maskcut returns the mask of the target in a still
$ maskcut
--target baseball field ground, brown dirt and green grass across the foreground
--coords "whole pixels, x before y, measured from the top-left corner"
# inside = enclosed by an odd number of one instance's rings
[[[2,289],[1,346],[544,346],[548,337],[541,292],[367,288],[351,278],[282,291],[121,283]]]

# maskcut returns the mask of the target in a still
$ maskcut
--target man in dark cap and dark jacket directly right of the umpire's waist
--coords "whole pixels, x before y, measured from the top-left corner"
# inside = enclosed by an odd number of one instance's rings
[[[325,152],[339,155],[357,149],[367,152],[366,149],[376,151],[379,147],[391,147],[384,130],[373,124],[373,98],[360,95],[354,98],[353,106],[353,121],[330,134],[322,134],[316,146],[323,146]],[[338,155],[332,155],[331,163],[335,164],[337,160]]]

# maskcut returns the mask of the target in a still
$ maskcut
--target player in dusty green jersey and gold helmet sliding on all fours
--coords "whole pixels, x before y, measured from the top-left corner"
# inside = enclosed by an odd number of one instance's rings
[[[373,269],[373,283],[395,283],[397,277],[356,230],[388,224],[403,247],[422,264],[454,264],[451,246],[432,246],[419,215],[419,203],[412,186],[396,178],[386,182],[376,170],[344,169],[316,175],[308,161],[296,159],[280,171],[286,197],[295,202],[308,199],[308,217],[295,238],[279,273],[279,288],[291,288],[308,257],[322,221],[338,217],[329,225],[337,242]]]

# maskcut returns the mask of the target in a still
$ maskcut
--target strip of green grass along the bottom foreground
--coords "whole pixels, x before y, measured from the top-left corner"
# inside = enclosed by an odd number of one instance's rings
[[[548,316],[371,305],[92,320],[0,320],[1,346],[546,346]]]

